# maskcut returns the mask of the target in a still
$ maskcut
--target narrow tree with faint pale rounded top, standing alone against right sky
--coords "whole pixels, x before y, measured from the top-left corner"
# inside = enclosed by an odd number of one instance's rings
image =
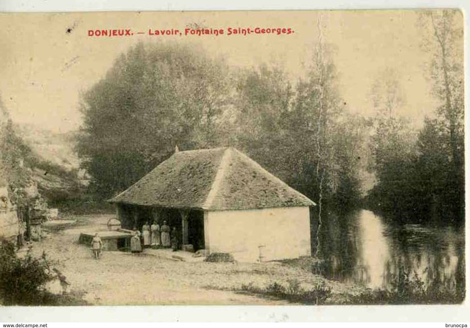
[[[415,133],[397,114],[404,105],[399,77],[387,68],[377,75],[371,87],[375,116],[371,119],[370,169],[377,183],[369,191],[369,206],[392,213],[396,219],[412,217],[420,204],[415,174]]]

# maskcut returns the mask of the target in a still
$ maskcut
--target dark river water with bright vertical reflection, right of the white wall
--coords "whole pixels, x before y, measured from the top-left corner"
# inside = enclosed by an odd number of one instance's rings
[[[388,288],[404,268],[427,286],[464,289],[462,228],[393,224],[366,210],[322,221],[321,273],[330,279]]]

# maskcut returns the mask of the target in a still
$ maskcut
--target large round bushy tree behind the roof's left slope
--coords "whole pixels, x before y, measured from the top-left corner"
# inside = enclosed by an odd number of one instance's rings
[[[227,68],[201,49],[140,43],[82,96],[78,154],[100,197],[125,190],[180,149],[217,144]]]

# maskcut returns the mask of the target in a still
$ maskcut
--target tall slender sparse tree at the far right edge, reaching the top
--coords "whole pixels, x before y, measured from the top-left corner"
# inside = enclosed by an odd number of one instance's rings
[[[448,164],[441,169],[450,172],[447,176],[446,197],[443,204],[452,208],[453,218],[462,221],[464,216],[464,147],[463,147],[463,16],[459,10],[430,10],[419,17],[423,31],[423,49],[429,54],[428,76],[431,78],[432,95],[438,102],[437,118],[428,120],[421,134],[421,159],[437,160],[443,153],[448,156]],[[435,139],[430,131],[441,132],[442,148],[425,147],[425,139]],[[441,155],[439,155],[441,153]],[[436,157],[436,156],[438,157]]]

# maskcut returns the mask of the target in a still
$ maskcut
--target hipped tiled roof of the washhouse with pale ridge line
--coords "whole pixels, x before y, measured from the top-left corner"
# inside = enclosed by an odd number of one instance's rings
[[[110,202],[214,211],[315,205],[235,148],[175,153]]]

